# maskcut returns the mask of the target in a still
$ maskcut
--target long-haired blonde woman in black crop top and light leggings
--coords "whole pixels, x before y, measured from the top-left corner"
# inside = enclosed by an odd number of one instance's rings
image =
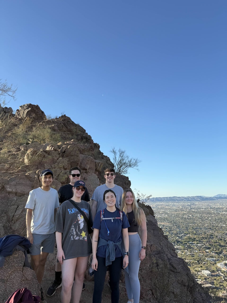
[[[130,227],[129,235],[129,275],[125,275],[125,286],[128,295],[127,303],[139,303],[140,301],[140,281],[138,278],[140,261],[146,256],[146,216],[135,199],[131,189],[123,192],[121,199],[121,209],[127,214]],[[141,240],[138,235],[139,226],[141,228]]]

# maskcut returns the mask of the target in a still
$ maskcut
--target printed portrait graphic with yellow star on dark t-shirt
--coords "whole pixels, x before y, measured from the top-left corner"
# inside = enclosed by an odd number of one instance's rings
[[[68,209],[68,211],[72,211],[71,209]],[[72,224],[71,230],[70,230],[70,238],[71,240],[84,240],[87,241],[87,229],[86,229],[86,221],[84,219],[84,216],[81,215],[79,211],[77,211],[75,208],[73,208],[73,212],[71,214],[74,214],[76,217],[76,221]],[[86,211],[83,209],[83,211]]]

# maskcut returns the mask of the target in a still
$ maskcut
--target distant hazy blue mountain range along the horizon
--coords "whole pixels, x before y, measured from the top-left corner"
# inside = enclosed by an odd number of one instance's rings
[[[171,201],[212,201],[227,199],[227,195],[218,194],[213,197],[206,196],[192,196],[192,197],[156,197],[150,198],[149,202],[171,202]]]

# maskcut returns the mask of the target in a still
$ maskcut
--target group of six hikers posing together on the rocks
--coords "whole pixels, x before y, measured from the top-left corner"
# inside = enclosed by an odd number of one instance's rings
[[[31,267],[41,285],[47,256],[54,252],[56,238],[55,279],[47,290],[47,296],[51,297],[62,286],[62,303],[70,303],[71,295],[73,303],[80,302],[91,253],[93,303],[102,300],[107,270],[111,302],[119,302],[122,268],[125,271],[127,303],[139,303],[140,300],[138,272],[140,261],[146,256],[146,216],[133,191],[123,190],[114,184],[115,170],[107,168],[104,173],[106,182],[95,189],[91,208],[85,182],[80,180],[79,167],[70,169],[70,183],[58,191],[51,188],[53,172],[44,169],[40,174],[42,186],[30,191],[28,196],[25,208],[27,238],[31,242]]]

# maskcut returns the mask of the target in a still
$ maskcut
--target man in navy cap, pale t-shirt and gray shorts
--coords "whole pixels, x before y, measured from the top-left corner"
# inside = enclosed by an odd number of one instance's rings
[[[54,217],[59,201],[58,192],[51,188],[53,172],[44,169],[39,179],[42,186],[30,191],[25,208],[27,238],[31,242],[31,267],[41,285],[47,256],[54,251]]]

